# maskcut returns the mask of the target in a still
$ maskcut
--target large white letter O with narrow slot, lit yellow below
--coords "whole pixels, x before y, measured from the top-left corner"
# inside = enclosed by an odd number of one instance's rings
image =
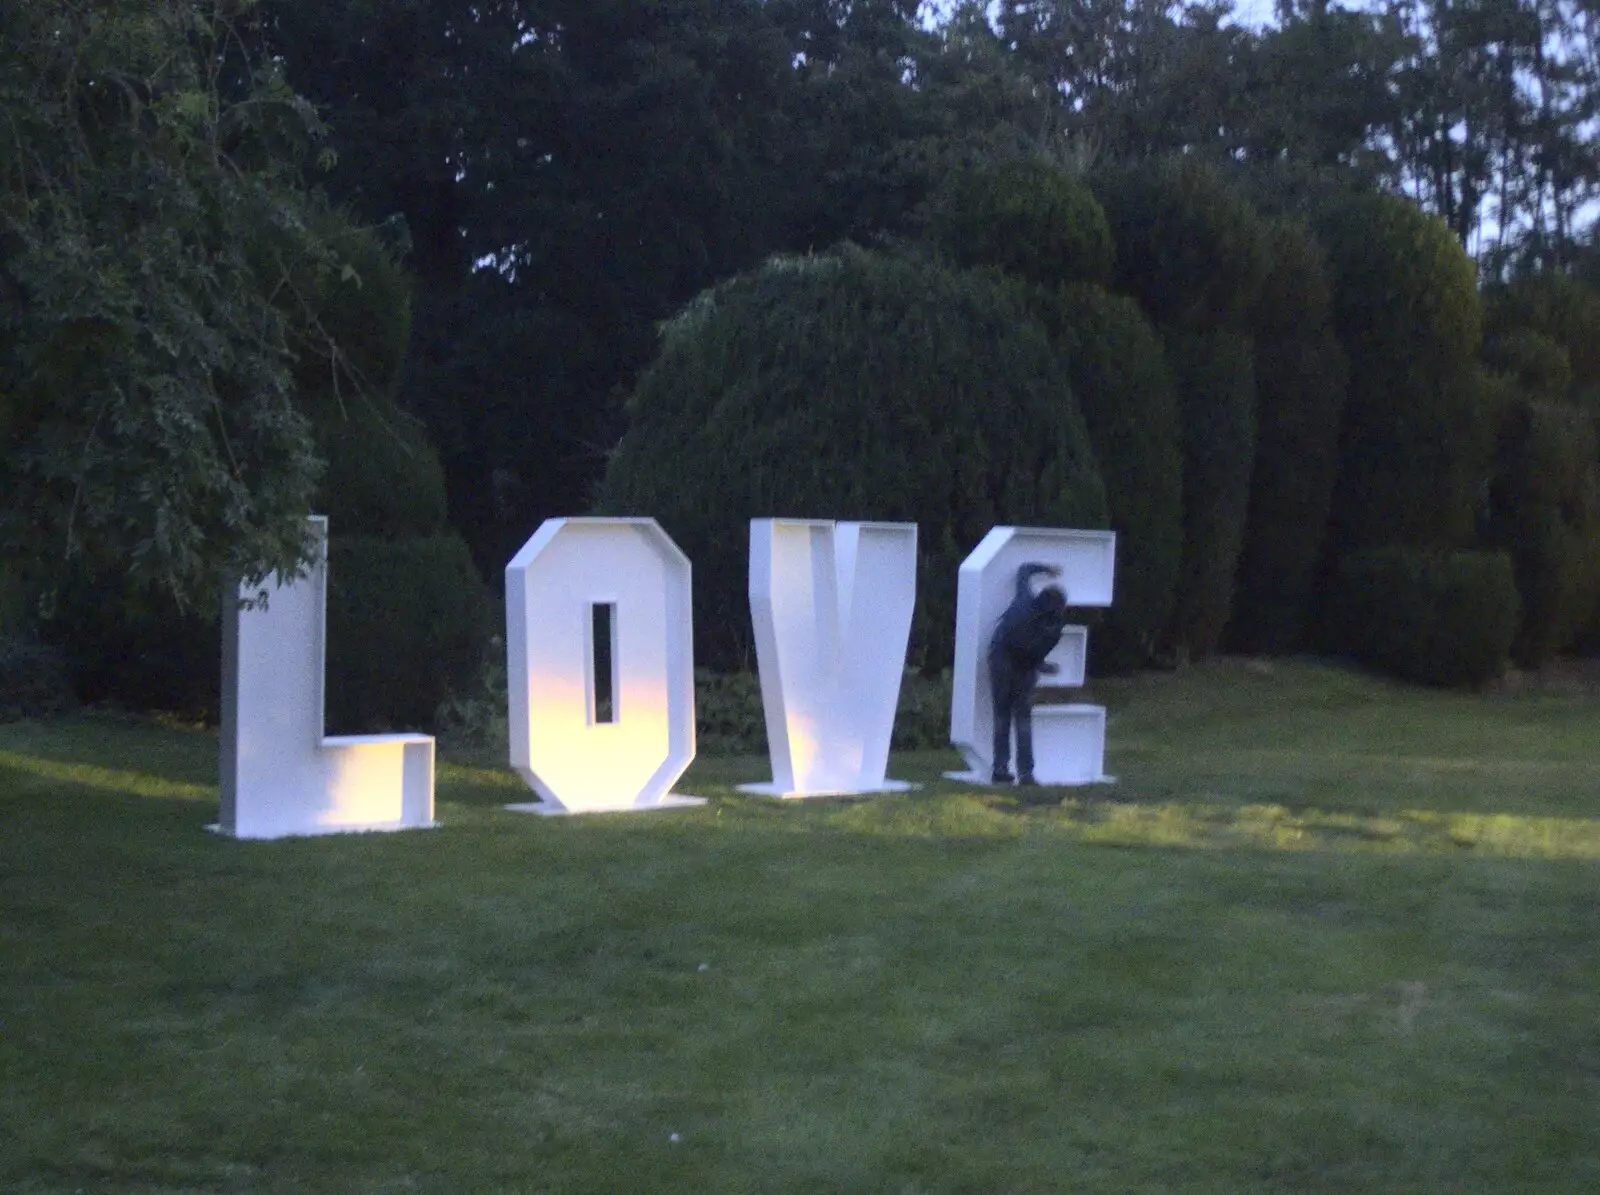
[[[694,758],[690,562],[653,518],[550,518],[506,566],[510,763],[531,813],[664,809]],[[614,721],[595,720],[592,608],[616,609]]]

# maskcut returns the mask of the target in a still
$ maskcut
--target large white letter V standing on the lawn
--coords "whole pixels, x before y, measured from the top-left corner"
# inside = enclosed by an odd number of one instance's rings
[[[766,797],[904,792],[890,737],[917,605],[915,523],[750,520]]]

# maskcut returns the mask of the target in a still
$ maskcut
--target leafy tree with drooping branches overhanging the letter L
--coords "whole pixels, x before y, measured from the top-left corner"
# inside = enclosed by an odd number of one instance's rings
[[[0,0],[5,547],[210,606],[298,568],[317,483],[294,314],[250,232],[338,269],[302,226],[320,136],[246,0]]]

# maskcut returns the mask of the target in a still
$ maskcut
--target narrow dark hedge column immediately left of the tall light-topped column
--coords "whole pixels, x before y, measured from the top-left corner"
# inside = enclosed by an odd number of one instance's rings
[[[1349,363],[1333,333],[1323,253],[1299,224],[1270,229],[1256,309],[1256,458],[1226,643],[1283,654],[1306,645],[1339,470]]]

